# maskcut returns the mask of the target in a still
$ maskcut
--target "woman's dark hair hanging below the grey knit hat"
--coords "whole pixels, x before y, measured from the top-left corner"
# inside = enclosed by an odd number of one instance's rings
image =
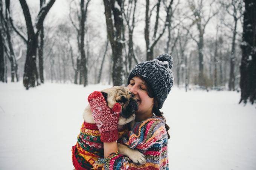
[[[141,77],[140,77],[141,78]],[[154,92],[151,90],[151,88],[148,86],[147,82],[141,78],[144,83],[146,84],[146,92],[148,93],[148,96],[150,98],[154,98]],[[163,112],[161,112],[159,109],[158,109],[158,103],[157,103],[157,100],[154,98],[154,106],[153,106],[153,113],[155,114],[155,116],[160,116],[160,117],[163,117],[163,119],[165,120],[165,117],[163,116]],[[166,122],[166,120],[165,120]],[[170,129],[170,127],[165,123],[165,129],[166,129],[166,132],[167,132],[167,135],[168,135],[168,139],[170,138],[170,135],[168,133],[168,130]]]

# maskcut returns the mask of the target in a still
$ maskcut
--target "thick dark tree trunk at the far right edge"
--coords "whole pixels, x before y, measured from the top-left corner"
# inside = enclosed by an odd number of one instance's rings
[[[256,102],[256,3],[244,0],[244,24],[242,36],[242,60],[240,66],[241,99],[244,103],[249,98],[251,104]]]

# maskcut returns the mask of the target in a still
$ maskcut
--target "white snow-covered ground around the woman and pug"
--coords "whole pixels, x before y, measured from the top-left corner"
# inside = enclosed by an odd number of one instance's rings
[[[72,170],[87,96],[110,86],[0,83],[0,170]],[[171,170],[255,170],[256,108],[240,93],[173,87],[162,111]]]

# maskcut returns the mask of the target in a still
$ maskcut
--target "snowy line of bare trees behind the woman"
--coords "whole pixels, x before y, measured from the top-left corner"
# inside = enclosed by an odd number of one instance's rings
[[[44,24],[55,0],[39,0],[37,16],[19,1],[0,0],[0,81],[23,74],[26,89],[45,80],[119,86],[137,63],[169,53],[178,87],[241,88],[241,101],[256,99],[253,0],[103,0],[101,21],[91,15],[95,2],[71,0],[61,24]]]

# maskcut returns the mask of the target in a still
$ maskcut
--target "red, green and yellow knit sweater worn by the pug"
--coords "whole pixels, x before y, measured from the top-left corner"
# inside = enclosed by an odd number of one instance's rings
[[[118,136],[122,137],[127,132],[126,128],[118,132]],[[73,165],[76,170],[90,170],[94,162],[104,158],[103,142],[96,124],[84,122],[77,139],[76,145],[72,147]]]

